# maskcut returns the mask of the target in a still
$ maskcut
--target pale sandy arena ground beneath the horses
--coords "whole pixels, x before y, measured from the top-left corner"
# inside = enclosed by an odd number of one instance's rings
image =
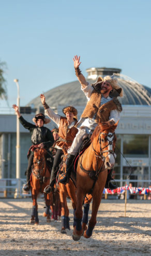
[[[0,255],[151,255],[151,206],[149,200],[102,200],[97,224],[89,239],[72,239],[71,230],[62,234],[61,221],[47,223],[42,216],[44,202],[38,199],[39,225],[29,224],[32,199],[0,199]]]

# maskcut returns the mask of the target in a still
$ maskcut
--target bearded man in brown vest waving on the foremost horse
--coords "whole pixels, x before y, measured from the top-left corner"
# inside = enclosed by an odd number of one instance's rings
[[[109,126],[112,126],[119,121],[120,111],[122,111],[122,107],[117,100],[117,97],[122,97],[123,92],[122,88],[120,88],[117,84],[117,79],[114,79],[110,76],[104,78],[99,77],[95,84],[90,85],[79,69],[81,64],[80,56],[74,56],[73,62],[75,74],[78,77],[78,80],[81,84],[81,89],[87,98],[87,104],[81,115],[80,121],[77,124],[79,131],[74,138],[71,147],[68,149],[66,175],[59,181],[63,184],[69,182],[71,175],[70,165],[74,156],[79,152],[79,149],[82,145],[82,138],[84,135],[92,133],[92,131],[94,131],[95,127],[98,125],[98,112],[100,111],[100,106],[102,108],[102,115],[105,116],[105,119],[102,118],[102,122],[105,120]],[[111,100],[114,101],[111,102],[112,106],[107,107],[109,106],[109,104],[107,105],[107,102]],[[108,174],[105,187],[115,189],[116,186],[113,185],[110,181],[112,179],[112,172],[113,169],[111,169],[110,173]]]

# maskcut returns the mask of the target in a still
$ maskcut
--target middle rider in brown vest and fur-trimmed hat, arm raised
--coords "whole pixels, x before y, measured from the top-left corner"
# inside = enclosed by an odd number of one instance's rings
[[[57,124],[59,128],[59,140],[56,142],[55,146],[57,148],[57,152],[54,157],[53,167],[51,170],[50,186],[44,189],[44,192],[50,193],[51,191],[54,190],[53,187],[55,184],[59,163],[61,163],[62,160],[61,157],[63,154],[67,154],[67,149],[71,146],[75,134],[78,132],[78,129],[75,128],[75,125],[78,123],[78,111],[74,107],[68,106],[63,109],[63,113],[66,115],[66,117],[57,115],[48,106],[43,94],[40,95],[40,98],[46,114],[53,120],[53,122]]]

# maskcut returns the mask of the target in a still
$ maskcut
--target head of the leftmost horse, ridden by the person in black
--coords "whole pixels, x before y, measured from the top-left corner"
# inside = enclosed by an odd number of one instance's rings
[[[40,179],[43,176],[44,170],[46,170],[45,154],[46,149],[44,148],[37,148],[34,151],[32,172],[37,179]]]

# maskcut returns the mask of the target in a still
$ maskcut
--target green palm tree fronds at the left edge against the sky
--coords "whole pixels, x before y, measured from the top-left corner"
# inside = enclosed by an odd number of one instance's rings
[[[0,98],[7,99],[6,80],[4,78],[4,70],[6,69],[6,63],[0,61]]]

